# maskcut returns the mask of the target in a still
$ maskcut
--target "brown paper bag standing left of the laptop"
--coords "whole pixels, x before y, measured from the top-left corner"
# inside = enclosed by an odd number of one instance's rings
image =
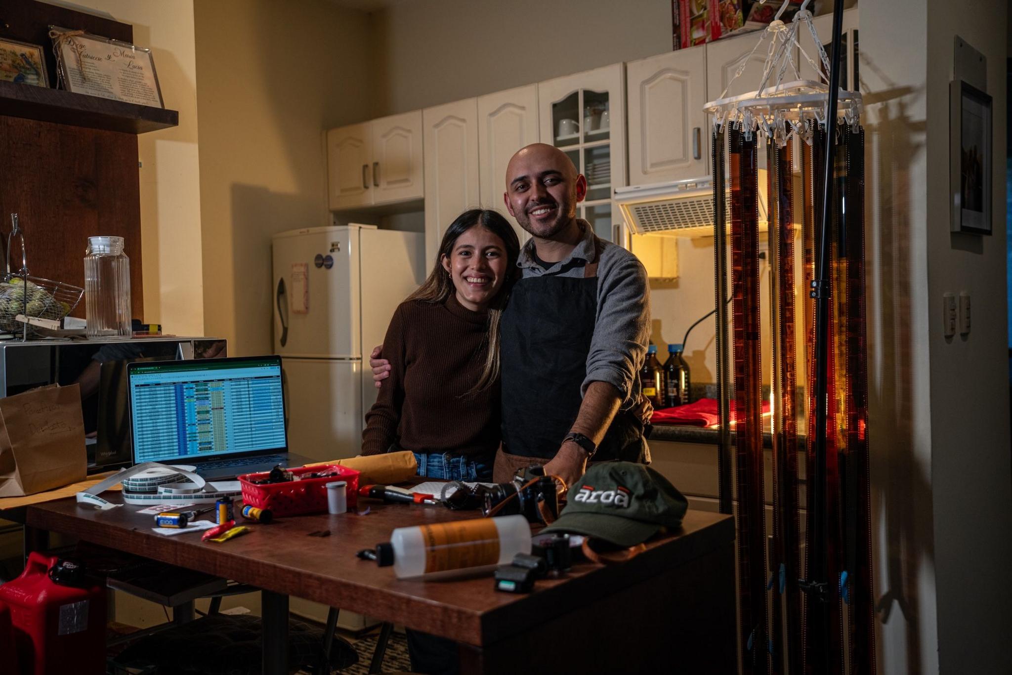
[[[0,497],[83,481],[87,469],[77,385],[50,385],[0,399]]]

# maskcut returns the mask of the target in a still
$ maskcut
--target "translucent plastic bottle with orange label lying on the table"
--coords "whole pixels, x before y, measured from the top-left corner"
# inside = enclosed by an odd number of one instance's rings
[[[530,553],[530,523],[522,515],[398,527],[390,537],[398,579],[451,570],[509,565]]]

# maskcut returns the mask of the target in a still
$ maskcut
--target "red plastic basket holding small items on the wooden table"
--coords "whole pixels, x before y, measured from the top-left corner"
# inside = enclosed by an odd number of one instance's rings
[[[292,474],[331,474],[327,478],[308,478],[302,481],[286,481],[284,483],[270,483],[268,485],[254,485],[251,481],[258,481],[267,478],[269,472],[259,474],[244,474],[239,477],[239,482],[243,488],[243,503],[255,506],[258,509],[270,509],[275,516],[294,516],[305,513],[319,513],[327,510],[327,488],[328,483],[334,481],[344,481],[348,484],[345,490],[348,507],[353,507],[358,502],[358,474],[354,469],[347,469],[339,465],[325,465],[322,467],[303,467],[302,469],[289,469]]]

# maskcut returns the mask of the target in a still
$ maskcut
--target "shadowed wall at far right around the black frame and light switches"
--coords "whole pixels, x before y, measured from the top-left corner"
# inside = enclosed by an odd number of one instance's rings
[[[942,673],[1012,672],[1012,591],[992,580],[1012,557],[1008,307],[1005,287],[1007,0],[965,11],[928,2],[927,303],[931,357],[931,487],[934,504],[938,665]],[[992,110],[994,236],[949,233],[949,82],[955,35],[984,54]],[[864,36],[862,35],[862,44]],[[942,293],[967,291],[973,327],[942,334]],[[972,552],[971,555],[967,555]],[[1000,646],[1000,647],[999,647]]]

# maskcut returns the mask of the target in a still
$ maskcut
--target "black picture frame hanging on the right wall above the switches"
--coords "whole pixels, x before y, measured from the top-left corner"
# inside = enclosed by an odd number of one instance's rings
[[[992,234],[992,99],[963,80],[949,83],[950,231]]]

